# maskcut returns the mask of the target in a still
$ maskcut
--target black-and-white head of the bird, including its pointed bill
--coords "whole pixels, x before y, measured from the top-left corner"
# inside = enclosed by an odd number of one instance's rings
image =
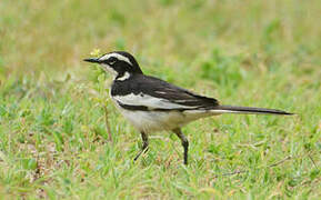
[[[112,73],[119,80],[124,80],[134,73],[142,73],[133,56],[126,51],[112,51],[99,58],[89,58],[83,61],[99,63],[103,70]]]

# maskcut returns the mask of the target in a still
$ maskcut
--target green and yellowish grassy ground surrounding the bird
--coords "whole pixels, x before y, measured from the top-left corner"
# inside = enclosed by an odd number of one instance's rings
[[[318,199],[320,13],[319,0],[1,0],[0,197]],[[188,167],[168,132],[132,163],[139,133],[81,61],[96,48],[225,104],[298,114],[199,120]]]

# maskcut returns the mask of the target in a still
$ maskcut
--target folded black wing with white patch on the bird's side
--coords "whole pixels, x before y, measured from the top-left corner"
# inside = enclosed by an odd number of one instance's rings
[[[218,100],[202,97],[153,77],[140,77],[129,82],[131,93],[113,94],[113,99],[130,110],[197,110],[213,109]]]

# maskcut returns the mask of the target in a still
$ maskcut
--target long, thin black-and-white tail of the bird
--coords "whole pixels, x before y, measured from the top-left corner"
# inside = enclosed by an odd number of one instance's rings
[[[218,113],[247,113],[247,114],[293,114],[283,110],[254,108],[254,107],[233,107],[233,106],[217,106],[213,112]]]

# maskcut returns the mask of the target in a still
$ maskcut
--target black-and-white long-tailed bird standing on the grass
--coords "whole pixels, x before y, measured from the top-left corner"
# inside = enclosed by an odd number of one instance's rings
[[[152,132],[172,131],[181,140],[183,163],[188,164],[189,140],[181,128],[201,118],[223,113],[293,114],[277,109],[221,104],[214,98],[144,74],[136,58],[127,51],[112,51],[83,61],[98,63],[112,74],[109,90],[111,100],[142,139],[142,147],[133,161],[147,152]]]

